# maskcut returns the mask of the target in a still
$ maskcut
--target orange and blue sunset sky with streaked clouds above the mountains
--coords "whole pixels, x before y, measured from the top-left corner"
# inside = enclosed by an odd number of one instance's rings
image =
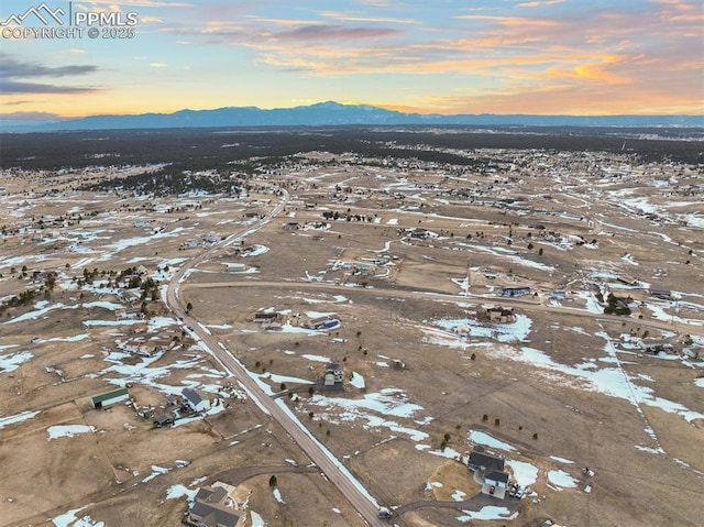
[[[0,22],[41,3],[2,0]],[[420,113],[704,113],[700,0],[45,4],[139,23],[132,39],[19,36],[45,26],[33,13],[3,25],[4,119],[326,100]]]

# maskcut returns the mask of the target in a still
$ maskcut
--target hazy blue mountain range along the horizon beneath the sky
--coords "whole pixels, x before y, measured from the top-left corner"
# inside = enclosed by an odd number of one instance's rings
[[[81,119],[18,125],[0,121],[0,131],[127,130],[166,128],[324,127],[324,125],[474,125],[474,127],[704,127],[704,116],[531,116],[421,114],[366,105],[318,102],[271,110],[231,107],[180,110],[174,113],[92,116]]]

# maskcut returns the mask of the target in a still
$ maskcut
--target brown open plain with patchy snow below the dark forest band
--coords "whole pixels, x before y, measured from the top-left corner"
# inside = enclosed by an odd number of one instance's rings
[[[246,525],[370,523],[222,353],[389,525],[701,525],[701,143],[124,133],[3,154],[1,526],[179,525],[216,481]]]

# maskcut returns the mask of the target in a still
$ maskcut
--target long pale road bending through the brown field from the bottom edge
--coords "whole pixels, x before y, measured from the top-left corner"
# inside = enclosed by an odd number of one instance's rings
[[[191,260],[184,263],[182,268],[174,275],[168,284],[166,292],[166,304],[182,318],[189,331],[197,337],[202,345],[220,361],[227,371],[229,371],[248,392],[250,398],[254,400],[263,411],[270,414],[272,418],[278,422],[290,436],[290,438],[300,447],[308,458],[318,466],[318,469],[332,482],[340,493],[346,497],[358,514],[372,526],[385,525],[377,518],[378,505],[376,499],[366,492],[360,482],[348,471],[348,469],[338,461],[330,451],[328,451],[310,432],[300,424],[300,421],[288,411],[285,403],[273,399],[258,384],[254,381],[244,369],[244,366],[219,342],[212,334],[206,332],[198,323],[198,320],[188,315],[184,310],[183,303],[179,298],[179,288],[182,282],[188,276],[190,270],[199,263],[206,261],[209,255],[223,246],[230,245],[242,238],[256,232],[272,218],[275,218],[286,206],[288,201],[288,193],[284,191],[284,199],[278,204],[266,217],[256,223],[237,232],[220,243],[213,245],[210,251],[206,251]],[[280,285],[280,284],[279,284]],[[280,406],[279,406],[280,403]]]

